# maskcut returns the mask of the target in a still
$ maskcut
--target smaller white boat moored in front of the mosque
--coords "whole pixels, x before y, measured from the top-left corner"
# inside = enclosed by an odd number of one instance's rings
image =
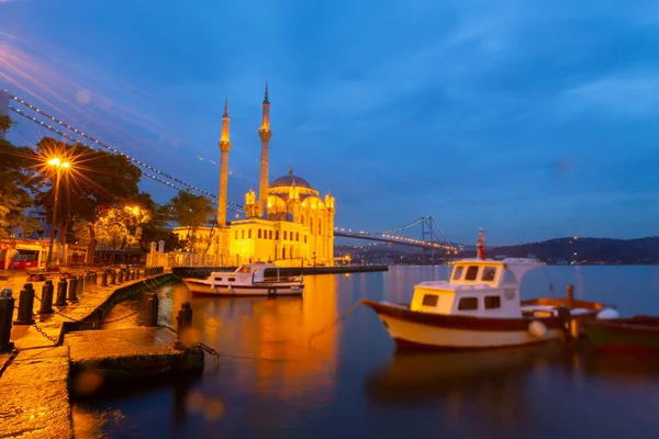
[[[266,277],[266,269],[273,275]],[[206,279],[185,278],[192,295],[206,296],[280,296],[302,295],[303,275],[300,279],[279,275],[273,263],[256,262],[239,266],[235,271],[213,271]]]

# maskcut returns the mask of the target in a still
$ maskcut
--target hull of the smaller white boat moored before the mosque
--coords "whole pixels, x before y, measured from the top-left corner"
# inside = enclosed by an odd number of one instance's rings
[[[213,285],[197,279],[183,279],[193,296],[225,296],[225,297],[272,297],[299,296],[304,293],[304,285],[297,282],[264,282],[256,285]]]

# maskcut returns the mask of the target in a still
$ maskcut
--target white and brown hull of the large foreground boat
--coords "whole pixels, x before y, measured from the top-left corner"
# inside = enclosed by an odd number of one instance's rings
[[[399,350],[496,349],[530,346],[563,338],[558,317],[481,318],[410,311],[407,306],[361,301],[382,320]],[[541,335],[529,330],[540,322]]]

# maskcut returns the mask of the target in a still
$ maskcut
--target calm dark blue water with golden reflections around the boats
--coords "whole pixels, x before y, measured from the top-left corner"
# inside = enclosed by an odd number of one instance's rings
[[[206,357],[191,383],[77,402],[77,437],[656,437],[659,357],[561,346],[396,356],[370,309],[336,322],[359,299],[407,302],[415,283],[446,277],[446,267],[310,275],[304,299],[284,300],[191,300],[183,284],[164,286],[159,322],[175,326],[191,301],[201,340],[223,352],[219,370]],[[659,315],[659,267],[548,267],[526,275],[523,299],[551,295],[549,281],[623,316]]]

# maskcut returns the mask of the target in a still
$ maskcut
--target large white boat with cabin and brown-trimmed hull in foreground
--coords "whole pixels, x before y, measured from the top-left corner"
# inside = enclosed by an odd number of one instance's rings
[[[570,297],[522,303],[524,274],[545,263],[530,258],[485,259],[482,229],[477,255],[456,261],[448,281],[416,284],[410,304],[361,303],[376,312],[399,349],[503,348],[565,339],[572,336],[576,315],[596,317],[606,308]],[[571,309],[570,303],[579,307]]]

